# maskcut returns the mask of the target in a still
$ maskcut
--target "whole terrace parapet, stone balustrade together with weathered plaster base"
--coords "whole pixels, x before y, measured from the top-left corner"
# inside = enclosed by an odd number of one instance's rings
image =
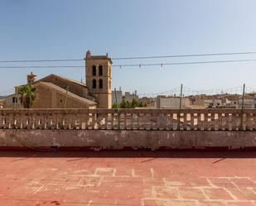
[[[0,150],[254,149],[255,109],[0,109]]]

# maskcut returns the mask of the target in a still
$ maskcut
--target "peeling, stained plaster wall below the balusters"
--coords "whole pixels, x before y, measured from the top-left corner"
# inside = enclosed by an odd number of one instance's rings
[[[25,147],[24,147],[25,146]],[[58,146],[61,149],[255,149],[256,132],[0,130],[0,150]]]

